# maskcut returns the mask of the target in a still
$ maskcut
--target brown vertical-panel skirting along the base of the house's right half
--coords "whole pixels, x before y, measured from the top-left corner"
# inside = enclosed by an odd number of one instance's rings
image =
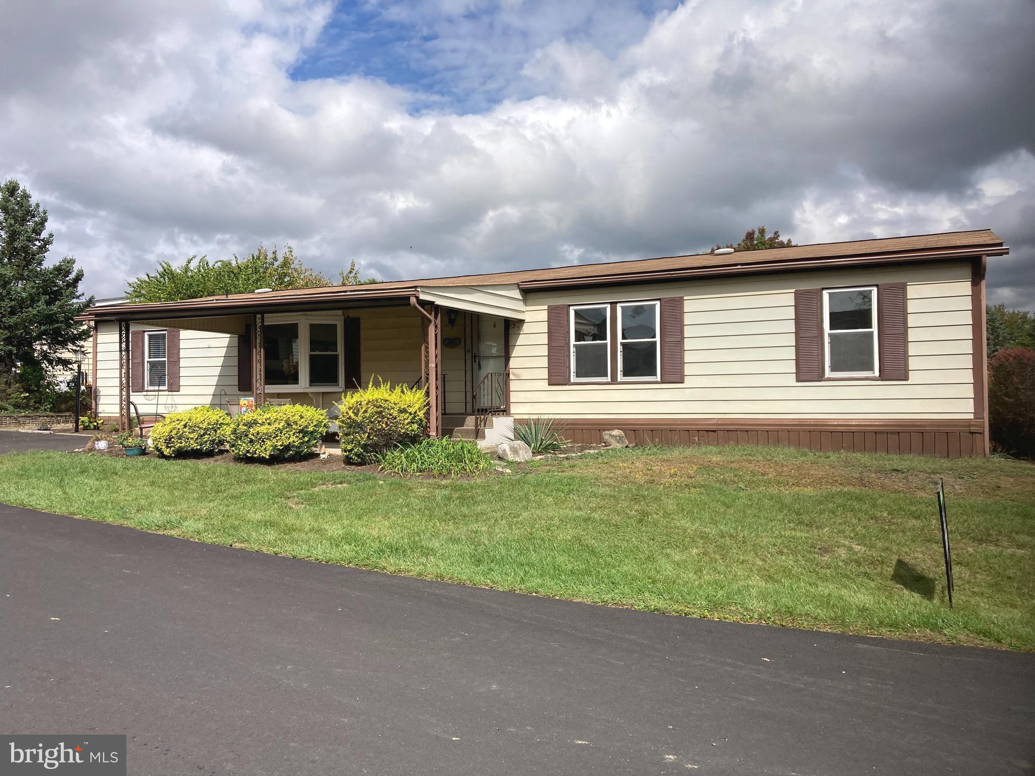
[[[565,438],[583,445],[598,445],[601,432],[620,428],[637,445],[772,445],[942,458],[985,454],[982,420],[571,418],[563,422]]]

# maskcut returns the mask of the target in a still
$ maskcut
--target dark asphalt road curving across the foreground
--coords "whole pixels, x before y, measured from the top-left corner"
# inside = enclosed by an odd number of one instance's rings
[[[1028,774],[1035,656],[0,507],[0,729],[126,734],[134,774]]]

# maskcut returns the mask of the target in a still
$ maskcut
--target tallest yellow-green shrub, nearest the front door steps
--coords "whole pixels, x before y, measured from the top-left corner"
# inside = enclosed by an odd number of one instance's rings
[[[380,382],[342,395],[337,405],[342,454],[353,464],[371,464],[396,445],[416,442],[427,427],[423,389]]]

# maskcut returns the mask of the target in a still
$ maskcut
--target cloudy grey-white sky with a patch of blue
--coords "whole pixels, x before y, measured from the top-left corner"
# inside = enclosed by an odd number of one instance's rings
[[[0,0],[0,177],[119,294],[989,227],[1035,308],[1031,0]]]

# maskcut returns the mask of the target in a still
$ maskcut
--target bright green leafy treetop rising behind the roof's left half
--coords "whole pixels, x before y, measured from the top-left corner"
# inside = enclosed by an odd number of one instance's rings
[[[356,263],[341,273],[342,285],[377,282],[374,278],[360,278]],[[183,264],[174,266],[159,262],[156,272],[147,272],[129,281],[127,298],[131,302],[175,302],[225,294],[246,294],[256,289],[315,289],[332,286],[333,281],[314,269],[305,267],[295,256],[291,245],[277,251],[260,245],[243,259],[210,262],[207,257],[193,256]]]

